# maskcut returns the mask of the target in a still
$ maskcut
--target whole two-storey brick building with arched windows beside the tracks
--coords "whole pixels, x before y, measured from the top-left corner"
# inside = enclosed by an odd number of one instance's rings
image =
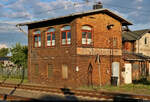
[[[108,9],[21,23],[28,26],[28,78],[55,87],[121,81],[122,26],[131,25]]]

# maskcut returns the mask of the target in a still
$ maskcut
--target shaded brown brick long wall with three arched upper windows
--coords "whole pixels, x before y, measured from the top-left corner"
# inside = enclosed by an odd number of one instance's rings
[[[28,60],[28,73],[29,80],[34,83],[44,83],[50,86],[72,86],[75,79],[74,68],[76,66],[76,58],[75,53],[75,21],[71,21],[69,23],[58,24],[54,26],[45,26],[45,27],[35,27],[29,29],[29,60]],[[62,46],[61,45],[61,32],[60,29],[64,25],[71,26],[71,45]],[[56,29],[55,37],[56,37],[56,46],[52,48],[45,47],[45,32],[49,27],[54,27]],[[33,48],[33,38],[32,32],[36,29],[40,29],[42,32],[42,46],[41,48]],[[35,64],[39,64],[39,75],[36,77],[35,73]],[[51,78],[47,77],[47,66],[48,64],[53,65],[53,75]],[[69,78],[62,79],[62,64],[68,65],[69,68]]]

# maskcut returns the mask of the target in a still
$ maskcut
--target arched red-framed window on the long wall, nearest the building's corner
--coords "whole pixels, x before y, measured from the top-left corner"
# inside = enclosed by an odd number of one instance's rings
[[[64,26],[61,28],[61,43],[62,45],[71,44],[71,27]]]

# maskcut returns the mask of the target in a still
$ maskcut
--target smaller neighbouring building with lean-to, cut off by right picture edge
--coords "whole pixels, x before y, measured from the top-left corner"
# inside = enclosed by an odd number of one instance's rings
[[[124,79],[138,80],[150,75],[150,30],[124,31],[123,59],[125,62]],[[130,69],[130,70],[127,70]],[[131,71],[131,72],[130,72]]]

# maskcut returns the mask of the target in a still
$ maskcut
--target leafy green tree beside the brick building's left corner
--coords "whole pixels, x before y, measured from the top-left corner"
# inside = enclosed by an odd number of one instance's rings
[[[16,43],[11,49],[11,61],[18,67],[27,68],[28,47]]]

